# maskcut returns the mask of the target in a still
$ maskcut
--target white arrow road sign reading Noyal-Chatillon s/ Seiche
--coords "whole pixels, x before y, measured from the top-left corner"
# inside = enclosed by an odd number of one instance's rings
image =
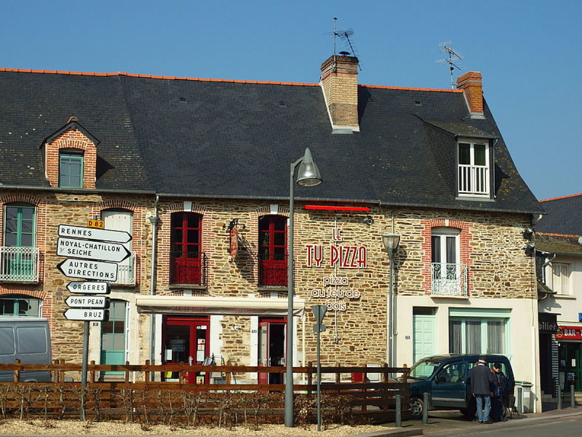
[[[100,259],[121,262],[131,253],[124,245],[104,241],[89,241],[76,238],[59,238],[56,242],[56,255],[73,256],[83,259]]]

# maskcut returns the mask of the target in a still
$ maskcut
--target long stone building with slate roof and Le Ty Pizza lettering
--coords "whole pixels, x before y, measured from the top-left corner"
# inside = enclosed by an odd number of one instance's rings
[[[58,228],[98,219],[133,238],[91,359],[284,364],[289,171],[310,147],[324,182],[295,189],[294,363],[314,360],[309,308],[326,304],[325,364],[502,353],[535,393],[523,232],[542,208],[481,73],[435,90],[357,71],[344,56],[320,83],[2,70],[2,312],[48,317],[54,357],[79,361]],[[392,329],[384,234],[400,237]]]

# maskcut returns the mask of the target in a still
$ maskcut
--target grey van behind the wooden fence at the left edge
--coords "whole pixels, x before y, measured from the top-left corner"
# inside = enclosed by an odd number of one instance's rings
[[[0,363],[51,364],[51,333],[41,317],[0,316]],[[0,371],[0,381],[14,380],[13,371]],[[48,382],[51,372],[20,372],[23,382]]]

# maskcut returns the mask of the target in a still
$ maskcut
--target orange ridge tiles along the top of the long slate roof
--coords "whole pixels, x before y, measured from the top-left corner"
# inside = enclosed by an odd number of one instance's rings
[[[319,83],[301,83],[301,82],[272,82],[270,80],[236,80],[236,79],[203,79],[202,77],[175,77],[175,76],[155,76],[155,75],[140,75],[136,73],[86,73],[77,71],[56,71],[56,70],[31,70],[21,68],[0,68],[0,72],[13,73],[49,73],[57,75],[80,75],[80,76],[127,76],[127,77],[145,77],[147,79],[166,79],[166,80],[198,80],[200,82],[230,82],[230,83],[254,83],[254,84],[270,84],[270,85],[295,85],[295,86],[320,86]],[[439,91],[443,93],[462,93],[463,90],[449,90],[449,89],[432,89],[432,88],[410,88],[402,86],[382,86],[382,85],[359,85],[363,88],[378,88],[384,90],[404,90],[404,91]],[[551,199],[549,199],[551,200]]]

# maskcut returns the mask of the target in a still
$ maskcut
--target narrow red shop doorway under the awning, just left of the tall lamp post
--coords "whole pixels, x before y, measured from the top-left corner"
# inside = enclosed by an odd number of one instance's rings
[[[286,318],[259,319],[258,365],[284,366],[286,344]],[[259,384],[282,384],[283,373],[259,373]]]

